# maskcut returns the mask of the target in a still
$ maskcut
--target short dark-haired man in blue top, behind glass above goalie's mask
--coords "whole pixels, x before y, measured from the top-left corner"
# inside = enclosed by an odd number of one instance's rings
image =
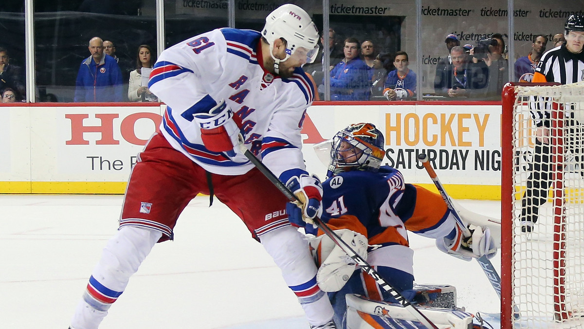
[[[345,40],[345,58],[331,71],[331,101],[368,101],[370,67],[359,58],[359,40]]]

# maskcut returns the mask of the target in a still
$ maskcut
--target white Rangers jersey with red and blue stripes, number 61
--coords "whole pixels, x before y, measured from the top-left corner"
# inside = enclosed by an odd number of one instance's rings
[[[253,168],[237,149],[234,157],[207,150],[193,121],[225,99],[241,119],[245,146],[286,182],[305,172],[300,130],[314,87],[301,68],[284,79],[264,70],[261,58],[259,32],[217,29],[163,51],[148,86],[168,106],[161,131],[176,150],[214,174]]]

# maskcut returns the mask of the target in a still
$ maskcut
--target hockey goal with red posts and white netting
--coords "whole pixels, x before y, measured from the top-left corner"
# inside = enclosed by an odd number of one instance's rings
[[[584,328],[584,83],[507,84],[502,101],[501,328]]]

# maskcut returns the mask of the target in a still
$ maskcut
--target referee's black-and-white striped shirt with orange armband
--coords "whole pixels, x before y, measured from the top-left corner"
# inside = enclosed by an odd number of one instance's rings
[[[566,45],[546,51],[537,64],[532,82],[559,82],[562,85],[584,81],[584,51],[571,53]],[[531,115],[536,126],[549,126],[549,111],[542,112],[549,104],[543,99],[531,103]]]

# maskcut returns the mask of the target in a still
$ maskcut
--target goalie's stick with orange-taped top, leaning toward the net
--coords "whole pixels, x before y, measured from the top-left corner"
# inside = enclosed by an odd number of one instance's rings
[[[463,231],[463,235],[465,237],[470,237],[471,236],[470,230],[468,230],[467,225],[464,223],[463,219],[461,219],[458,210],[456,210],[454,204],[452,203],[452,200],[450,199],[450,196],[448,195],[448,193],[446,193],[444,185],[442,185],[442,182],[440,182],[440,179],[438,179],[438,175],[436,175],[434,168],[432,168],[432,166],[430,165],[430,162],[428,161],[428,156],[422,153],[418,155],[418,160],[422,162],[422,165],[426,169],[428,175],[430,176],[430,178],[432,178],[432,181],[434,182],[434,185],[436,185],[438,192],[440,192],[440,195],[442,195],[442,199],[444,199],[444,202],[446,202],[446,206],[448,206],[448,209],[450,209],[450,211],[453,213],[454,219],[456,219],[458,227],[460,227],[460,229]],[[486,258],[486,255],[482,255],[481,257],[475,259],[477,259],[478,264],[481,265],[482,271],[485,272],[486,278],[489,279],[491,286],[493,287],[493,289],[495,289],[495,292],[497,293],[497,296],[499,296],[500,300],[501,278],[499,276],[499,273],[497,273],[495,266],[493,266],[491,261],[488,258]],[[515,311],[515,314],[513,314],[513,316],[518,319],[520,316],[519,308],[517,307],[517,305],[515,306],[513,311]]]

